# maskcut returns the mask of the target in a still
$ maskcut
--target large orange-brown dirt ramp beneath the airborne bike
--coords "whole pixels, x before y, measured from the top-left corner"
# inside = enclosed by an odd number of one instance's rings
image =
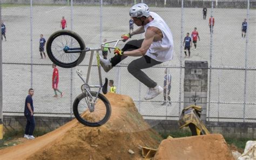
[[[157,148],[161,137],[143,120],[128,96],[107,94],[112,114],[100,127],[76,119],[51,133],[0,151],[0,159],[138,159],[139,145]],[[134,154],[129,154],[129,150]]]

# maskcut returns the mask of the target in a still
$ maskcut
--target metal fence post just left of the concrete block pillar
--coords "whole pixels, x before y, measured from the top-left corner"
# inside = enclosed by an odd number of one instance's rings
[[[182,81],[182,51],[183,51],[183,33],[184,33],[184,0],[181,1],[181,30],[180,30],[180,57],[179,57],[179,63],[180,63],[180,70],[179,70],[179,115],[181,110],[181,81]],[[178,115],[178,116],[179,116]]]

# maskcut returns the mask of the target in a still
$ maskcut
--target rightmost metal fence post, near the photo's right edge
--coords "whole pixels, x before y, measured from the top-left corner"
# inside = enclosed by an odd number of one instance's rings
[[[250,10],[250,0],[247,0],[247,16],[246,16],[246,19],[247,19],[247,31],[248,31],[248,27],[250,27],[250,24],[249,24],[249,10]],[[245,122],[245,107],[246,107],[246,85],[247,85],[247,56],[248,56],[248,32],[246,34],[246,44],[245,44],[245,86],[244,86],[244,114],[243,114],[243,122]]]

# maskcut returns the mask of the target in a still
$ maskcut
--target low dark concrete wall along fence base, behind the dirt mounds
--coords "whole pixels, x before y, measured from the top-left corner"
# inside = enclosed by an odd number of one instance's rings
[[[51,131],[71,118],[63,117],[35,117],[36,129]],[[146,120],[158,132],[170,132],[178,130],[178,122],[174,120]],[[25,129],[26,119],[24,116],[4,116],[4,130]],[[237,137],[256,139],[256,123],[239,123],[239,122],[206,122],[206,127],[211,133],[220,133],[224,137]]]

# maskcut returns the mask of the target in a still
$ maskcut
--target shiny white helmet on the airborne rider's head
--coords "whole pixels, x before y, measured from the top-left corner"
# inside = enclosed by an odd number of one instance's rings
[[[149,17],[150,11],[149,6],[147,6],[145,3],[139,3],[136,5],[133,5],[132,8],[130,8],[130,16],[131,17]]]

